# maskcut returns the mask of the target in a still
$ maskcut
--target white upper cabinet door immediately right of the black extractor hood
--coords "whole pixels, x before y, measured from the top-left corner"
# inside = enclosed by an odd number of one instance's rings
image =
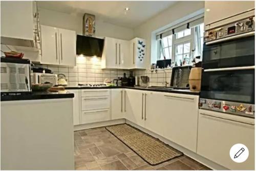
[[[119,45],[118,40],[105,37],[104,48],[101,58],[101,68],[118,68],[119,66]]]

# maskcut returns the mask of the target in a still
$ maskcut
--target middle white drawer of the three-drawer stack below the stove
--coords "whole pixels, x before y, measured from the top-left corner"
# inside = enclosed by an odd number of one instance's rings
[[[95,109],[105,109],[105,108],[110,108],[109,96],[82,97],[81,99],[82,110],[95,110]]]

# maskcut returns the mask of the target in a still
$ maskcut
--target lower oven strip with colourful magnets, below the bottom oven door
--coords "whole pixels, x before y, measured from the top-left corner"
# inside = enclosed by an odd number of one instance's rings
[[[252,118],[255,117],[254,104],[244,104],[238,102],[227,102],[200,98],[199,108]]]

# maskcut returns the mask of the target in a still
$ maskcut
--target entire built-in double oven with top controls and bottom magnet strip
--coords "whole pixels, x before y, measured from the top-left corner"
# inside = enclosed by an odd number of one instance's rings
[[[199,108],[255,117],[254,16],[207,31]]]

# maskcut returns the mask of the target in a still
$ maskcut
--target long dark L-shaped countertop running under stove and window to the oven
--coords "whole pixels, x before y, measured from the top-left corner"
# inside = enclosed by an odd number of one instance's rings
[[[158,92],[170,92],[170,93],[179,93],[179,94],[190,94],[190,95],[199,95],[200,92],[190,91],[189,89],[160,89],[152,87],[123,87],[123,86],[111,86],[111,87],[82,87],[82,86],[67,86],[65,89],[113,89],[113,88],[127,88],[135,90],[145,90],[145,91],[158,91]]]

